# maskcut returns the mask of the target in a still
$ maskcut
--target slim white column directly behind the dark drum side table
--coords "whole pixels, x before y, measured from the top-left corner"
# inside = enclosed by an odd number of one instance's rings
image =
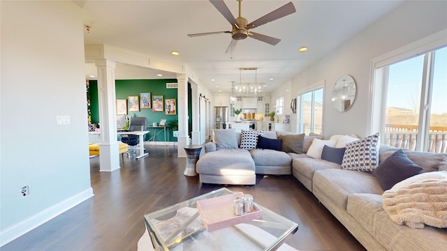
[[[189,145],[188,135],[188,77],[177,74],[177,114],[179,117],[179,137],[177,137],[178,157],[186,158],[183,147]]]

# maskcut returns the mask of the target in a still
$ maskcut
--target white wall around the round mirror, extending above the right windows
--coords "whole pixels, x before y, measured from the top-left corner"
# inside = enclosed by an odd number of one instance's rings
[[[323,134],[369,135],[373,133],[367,131],[371,60],[446,28],[446,1],[403,3],[337,50],[293,77],[291,96],[295,97],[307,86],[325,80]],[[330,100],[332,86],[339,77],[346,74],[352,75],[356,80],[357,96],[351,109],[347,112],[337,112]],[[288,89],[288,83],[279,89]],[[274,94],[275,97],[280,96],[280,93]],[[286,104],[288,103],[290,100],[286,100]],[[294,117],[291,119],[296,121]]]

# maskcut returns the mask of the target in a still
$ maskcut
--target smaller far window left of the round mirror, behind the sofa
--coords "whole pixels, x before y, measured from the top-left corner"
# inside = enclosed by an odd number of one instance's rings
[[[323,88],[298,95],[297,130],[298,133],[323,132]]]

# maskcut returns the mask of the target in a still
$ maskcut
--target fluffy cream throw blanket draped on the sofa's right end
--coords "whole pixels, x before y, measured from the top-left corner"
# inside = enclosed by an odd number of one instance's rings
[[[399,225],[447,227],[447,179],[413,181],[386,190],[382,200],[383,209]]]

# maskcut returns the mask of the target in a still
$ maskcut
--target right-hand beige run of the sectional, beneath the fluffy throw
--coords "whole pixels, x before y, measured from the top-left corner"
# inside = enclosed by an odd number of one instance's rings
[[[397,149],[380,146],[379,162]],[[423,172],[447,170],[447,154],[404,151]],[[447,229],[413,229],[391,220],[383,209],[383,189],[370,172],[302,155],[293,159],[293,176],[311,191],[367,250],[445,250]],[[447,203],[447,201],[445,201]]]

